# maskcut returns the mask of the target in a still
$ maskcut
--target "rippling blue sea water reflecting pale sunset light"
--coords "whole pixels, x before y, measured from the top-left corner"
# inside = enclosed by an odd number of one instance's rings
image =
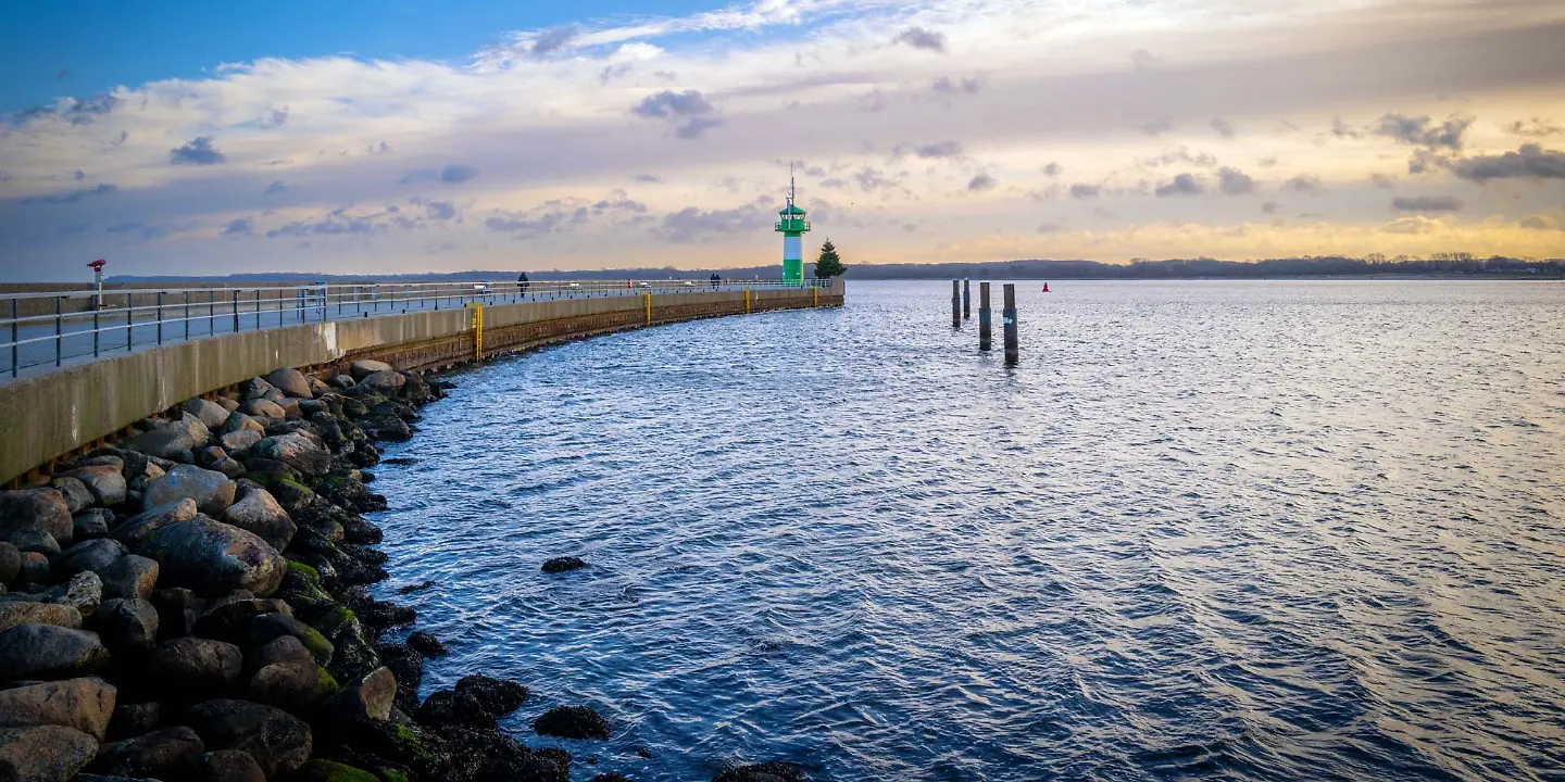
[[[595,704],[576,779],[1565,774],[1565,285],[1019,288],[1016,369],[936,282],[457,374],[427,685]]]

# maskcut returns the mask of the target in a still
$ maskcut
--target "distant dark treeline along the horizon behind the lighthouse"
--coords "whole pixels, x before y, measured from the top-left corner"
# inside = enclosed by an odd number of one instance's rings
[[[532,280],[704,280],[717,272],[728,280],[772,280],[781,275],[778,266],[747,266],[739,269],[527,269]],[[814,264],[804,264],[814,274]],[[1099,261],[994,261],[994,263],[880,263],[848,264],[847,277],[854,280],[950,280],[959,277],[994,280],[1183,280],[1183,278],[1265,278],[1265,277],[1366,277],[1366,275],[1482,275],[1482,274],[1565,274],[1565,260],[1474,258],[1466,253],[1438,253],[1427,260],[1307,256],[1272,258],[1266,261],[1219,261],[1214,258],[1175,258],[1166,261],[1135,260],[1130,263]],[[448,282],[448,280],[515,280],[516,271],[466,271],[446,274],[341,275],[307,272],[257,272],[224,277],[200,277],[225,283],[310,282]],[[192,277],[110,277],[114,283],[174,283]]]

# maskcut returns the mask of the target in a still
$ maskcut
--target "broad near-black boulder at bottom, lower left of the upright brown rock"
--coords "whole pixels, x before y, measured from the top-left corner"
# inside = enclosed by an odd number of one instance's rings
[[[310,759],[310,726],[282,708],[214,699],[191,707],[186,719],[207,746],[247,752],[268,779]]]

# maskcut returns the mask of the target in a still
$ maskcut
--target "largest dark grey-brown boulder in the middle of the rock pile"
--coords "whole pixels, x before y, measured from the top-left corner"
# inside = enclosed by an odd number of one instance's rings
[[[160,583],[188,586],[203,597],[235,590],[266,596],[277,591],[288,569],[264,540],[203,516],[158,527],[135,549],[158,560]]]

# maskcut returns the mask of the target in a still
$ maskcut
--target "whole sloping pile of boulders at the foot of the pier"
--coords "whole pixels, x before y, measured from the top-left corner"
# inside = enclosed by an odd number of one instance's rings
[[[567,780],[567,752],[496,726],[526,687],[419,702],[443,647],[398,640],[413,610],[365,588],[387,579],[374,443],[444,388],[279,369],[0,493],[0,782]],[[609,732],[585,707],[537,724]]]

